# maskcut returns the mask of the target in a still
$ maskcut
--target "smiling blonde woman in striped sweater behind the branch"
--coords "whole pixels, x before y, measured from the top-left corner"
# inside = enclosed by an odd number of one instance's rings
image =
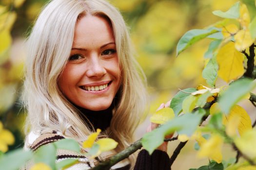
[[[28,47],[24,101],[31,133],[27,148],[37,150],[64,137],[82,143],[97,128],[118,142],[116,153],[133,142],[145,110],[146,90],[127,28],[115,7],[104,0],[52,0],[40,13]],[[66,152],[58,157],[80,157]],[[159,160],[151,165],[151,159]],[[112,169],[133,169],[135,160],[131,155]],[[89,169],[95,164],[86,157],[79,161],[71,168]],[[135,169],[158,169],[153,167],[158,164],[168,164],[166,153],[149,156],[142,150]]]

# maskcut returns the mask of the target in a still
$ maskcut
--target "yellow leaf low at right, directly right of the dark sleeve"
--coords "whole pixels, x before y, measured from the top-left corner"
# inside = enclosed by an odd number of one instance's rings
[[[199,143],[198,143],[199,144]],[[223,145],[223,139],[218,135],[213,135],[209,140],[202,143],[200,150],[198,151],[198,157],[210,157],[217,163],[222,161],[221,148]]]

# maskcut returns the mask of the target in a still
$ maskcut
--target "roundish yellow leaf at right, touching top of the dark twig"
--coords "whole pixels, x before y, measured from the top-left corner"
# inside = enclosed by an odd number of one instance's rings
[[[237,51],[243,51],[254,43],[249,30],[240,30],[234,38]]]

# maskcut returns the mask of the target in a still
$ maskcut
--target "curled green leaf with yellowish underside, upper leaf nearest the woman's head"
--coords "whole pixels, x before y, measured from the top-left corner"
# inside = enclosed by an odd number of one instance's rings
[[[217,33],[218,30],[215,28],[210,28],[207,30],[199,30],[199,29],[195,29],[195,30],[190,30],[187,33],[185,33],[180,40],[178,41],[177,44],[177,54],[180,54],[180,52],[186,50],[188,47],[190,47],[191,45],[195,44],[196,42],[198,42],[199,40],[207,37],[208,35]]]

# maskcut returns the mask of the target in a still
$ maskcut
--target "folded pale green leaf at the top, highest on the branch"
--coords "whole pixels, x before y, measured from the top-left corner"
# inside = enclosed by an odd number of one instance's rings
[[[218,17],[237,19],[240,16],[240,3],[236,2],[227,12],[222,12],[220,10],[214,11],[213,14]]]

